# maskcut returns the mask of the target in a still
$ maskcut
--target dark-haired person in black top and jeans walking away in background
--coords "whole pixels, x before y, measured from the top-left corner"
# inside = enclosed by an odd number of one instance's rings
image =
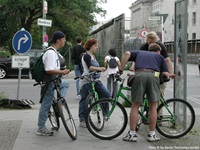
[[[77,45],[74,46],[72,49],[72,55],[71,58],[74,60],[74,72],[76,77],[80,77],[83,73],[83,67],[81,64],[81,58],[83,53],[85,52],[85,49],[83,48],[82,39],[80,37],[76,38]],[[76,93],[77,93],[77,100],[80,100],[80,88],[79,88],[79,79],[76,80]]]

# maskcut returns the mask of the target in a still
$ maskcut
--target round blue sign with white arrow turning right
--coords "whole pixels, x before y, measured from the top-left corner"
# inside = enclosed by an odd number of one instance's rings
[[[32,37],[24,28],[17,31],[12,39],[13,49],[17,53],[26,53],[32,46]]]

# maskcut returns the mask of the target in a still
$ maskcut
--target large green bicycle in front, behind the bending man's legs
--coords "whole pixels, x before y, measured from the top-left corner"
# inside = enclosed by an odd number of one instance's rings
[[[92,135],[102,140],[111,140],[121,135],[128,122],[127,112],[119,102],[119,97],[131,105],[131,100],[124,94],[124,91],[130,91],[131,88],[124,87],[125,79],[120,75],[117,75],[116,78],[121,82],[117,96],[114,99],[101,99],[93,103],[87,111],[87,129]],[[161,97],[160,101],[157,112],[159,114],[162,109],[163,115],[157,117],[157,131],[167,138],[179,138],[186,135],[195,122],[193,107],[187,101],[178,98],[165,100]],[[105,112],[103,103],[109,103],[108,112]],[[148,124],[148,111],[148,101],[144,97],[144,102],[138,110],[139,119],[136,130],[139,130],[141,124]],[[97,112],[100,114],[100,122],[99,118],[98,120],[96,118]],[[100,126],[101,128],[98,128]]]

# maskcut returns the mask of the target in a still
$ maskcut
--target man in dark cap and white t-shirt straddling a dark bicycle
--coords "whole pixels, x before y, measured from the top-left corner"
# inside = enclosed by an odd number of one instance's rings
[[[45,123],[48,118],[48,112],[51,108],[54,96],[54,83],[48,82],[58,76],[59,74],[68,74],[69,69],[61,70],[61,66],[64,64],[63,57],[59,54],[58,50],[65,45],[66,39],[65,34],[61,31],[53,33],[51,43],[52,45],[47,48],[46,52],[43,55],[44,69],[46,71],[44,82],[45,86],[41,89],[41,107],[38,117],[38,130],[37,135],[41,136],[52,136],[53,131],[50,131],[45,126]],[[60,86],[60,92],[62,97],[66,96],[67,89],[69,88],[69,82],[63,81]]]

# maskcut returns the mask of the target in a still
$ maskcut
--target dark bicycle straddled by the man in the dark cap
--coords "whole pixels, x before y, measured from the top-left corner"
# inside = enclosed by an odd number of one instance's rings
[[[60,128],[60,121],[59,118],[61,118],[63,125],[65,127],[65,130],[69,134],[69,136],[73,139],[77,139],[77,129],[76,125],[74,122],[74,119],[72,117],[72,114],[69,110],[67,101],[65,98],[61,97],[61,93],[59,90],[60,83],[61,83],[61,75],[56,77],[55,79],[52,80],[52,82],[55,85],[55,91],[57,93],[57,98],[54,97],[53,103],[51,106],[51,109],[48,113],[48,118],[49,121],[52,125],[52,129],[58,131]],[[41,87],[44,86],[42,83],[36,83],[34,86],[40,85]]]

